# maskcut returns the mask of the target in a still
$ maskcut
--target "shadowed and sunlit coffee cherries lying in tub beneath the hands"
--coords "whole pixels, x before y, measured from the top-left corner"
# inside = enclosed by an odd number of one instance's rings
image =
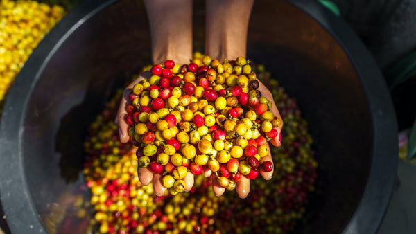
[[[288,96],[264,66],[252,64],[252,67],[257,78],[272,91],[285,123],[281,147],[270,148],[275,168],[270,181],[254,179],[248,197],[239,199],[235,192],[229,191],[221,197],[215,196],[211,179],[200,175],[195,177],[190,192],[174,196],[167,192],[157,197],[152,184],[142,186],[137,177],[137,147],[119,142],[114,124],[123,92],[119,90],[90,125],[85,139],[83,174],[91,196],[77,199],[73,205],[76,217],[67,213],[62,226],[56,228],[67,233],[73,231],[73,226],[85,233],[293,231],[296,224],[302,223],[299,220],[305,216],[309,195],[315,189],[317,162],[313,141],[296,100]],[[83,225],[85,222],[89,222],[87,227]]]

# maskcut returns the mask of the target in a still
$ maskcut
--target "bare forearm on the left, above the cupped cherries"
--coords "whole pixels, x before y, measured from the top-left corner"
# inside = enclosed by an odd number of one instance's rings
[[[145,0],[153,64],[192,58],[192,0]]]

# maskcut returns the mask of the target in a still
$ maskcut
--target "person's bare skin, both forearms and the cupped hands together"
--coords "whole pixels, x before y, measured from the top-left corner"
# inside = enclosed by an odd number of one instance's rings
[[[241,1],[238,0],[210,0],[206,2],[207,41],[205,53],[220,61],[224,59],[234,60],[239,56],[245,57],[248,20],[254,0],[245,1],[245,4],[241,4]],[[190,0],[147,0],[145,3],[146,9],[148,10],[150,28],[152,28],[153,63],[161,64],[168,59],[174,60],[179,64],[189,63],[189,59],[192,57],[192,2]],[[181,10],[169,10],[173,6]],[[163,12],[163,17],[161,17],[160,12]],[[229,17],[229,12],[233,12],[233,17]],[[175,24],[175,22],[180,22],[180,24]],[[231,27],[226,28],[226,25]],[[142,73],[123,92],[123,99],[121,100],[115,120],[116,124],[119,125],[121,143],[127,143],[130,140],[128,136],[128,124],[125,122],[125,116],[127,115],[125,107],[127,106],[128,95],[135,84],[141,82],[144,78],[150,78],[150,76],[149,71]],[[261,82],[259,91],[268,100],[272,101],[271,111],[281,119],[273,101],[272,93]],[[276,128],[278,136],[281,133],[282,127],[283,123]],[[279,137],[273,138],[270,143],[277,147],[281,144]],[[271,154],[269,153],[267,156],[264,156],[260,163],[263,161],[272,161]],[[207,168],[205,168],[204,174],[206,177],[212,175],[211,171],[207,170]],[[272,178],[273,171],[264,172],[263,169],[260,169],[260,174],[264,179],[269,180]],[[153,174],[148,168],[138,168],[138,175],[141,183],[144,185],[148,185],[153,181],[153,188],[156,195],[164,195],[167,189],[162,185],[161,174]],[[191,172],[184,178],[186,191],[191,190],[194,183],[193,178],[194,175]],[[212,176],[212,179],[214,193],[217,196],[223,195],[225,188],[218,185],[216,176]],[[250,192],[250,179],[241,177],[241,180],[236,184],[236,192],[241,198],[247,197]]]

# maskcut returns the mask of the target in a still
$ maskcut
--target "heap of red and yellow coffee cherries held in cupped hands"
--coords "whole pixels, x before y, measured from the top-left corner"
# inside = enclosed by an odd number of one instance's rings
[[[227,190],[242,176],[255,179],[259,167],[272,170],[271,161],[259,162],[269,154],[267,141],[279,137],[281,119],[258,90],[250,61],[166,60],[150,72],[132,88],[126,121],[139,166],[163,174],[171,194],[184,191],[188,172],[204,167]]]

